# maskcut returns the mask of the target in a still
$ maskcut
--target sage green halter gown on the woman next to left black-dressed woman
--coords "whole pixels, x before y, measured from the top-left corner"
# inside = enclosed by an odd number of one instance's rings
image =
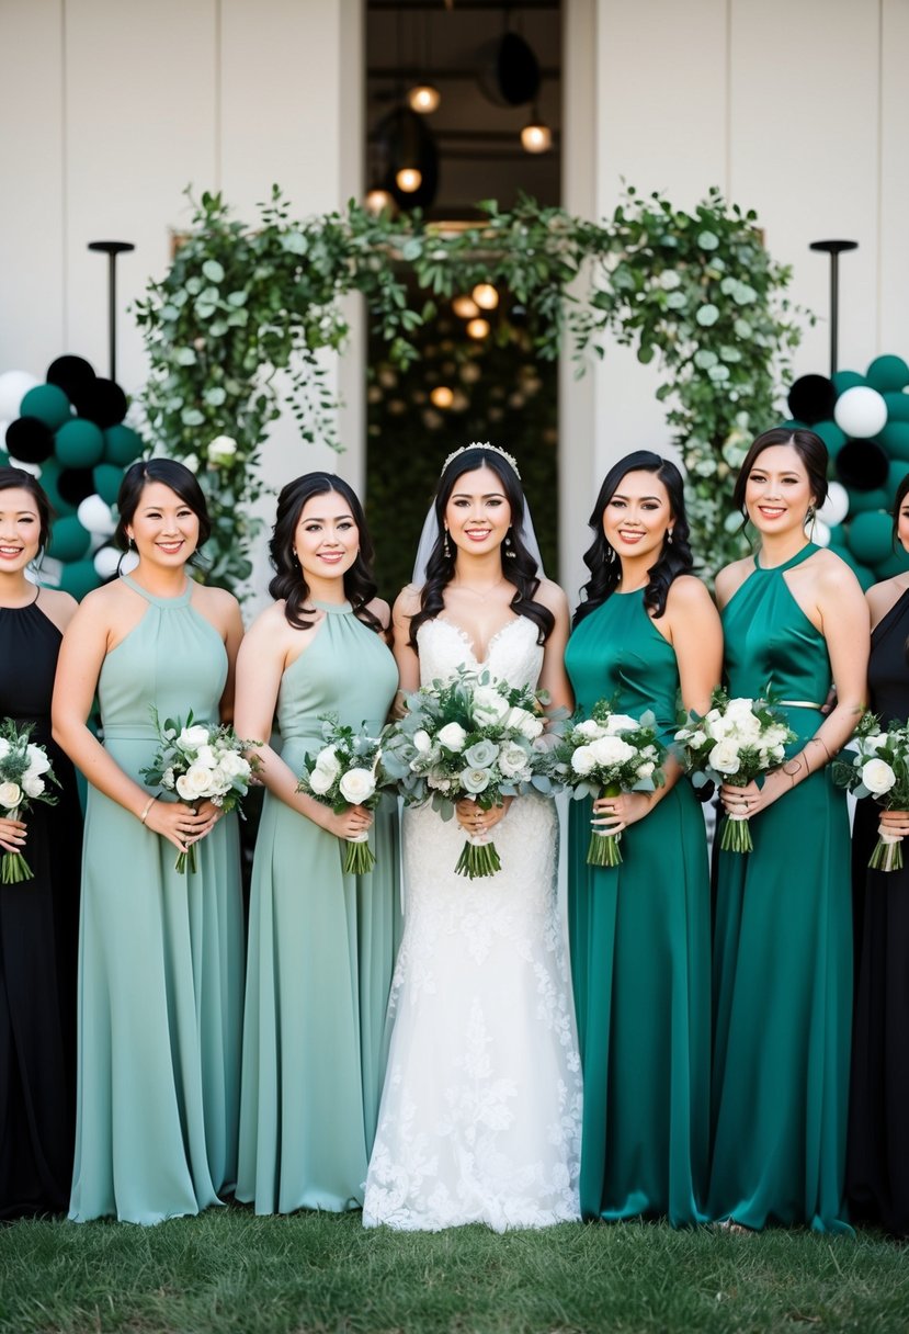
[[[151,718],[217,722],[221,636],[155,598],[104,659],[104,747],[143,782]],[[69,1217],[156,1223],[219,1203],[236,1181],[243,1014],[237,816],[195,844],[197,871],[117,802],[88,790],[79,947],[79,1093]]]

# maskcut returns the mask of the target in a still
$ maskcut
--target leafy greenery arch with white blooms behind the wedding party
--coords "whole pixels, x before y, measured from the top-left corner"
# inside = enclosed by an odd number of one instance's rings
[[[137,320],[151,358],[143,406],[155,448],[197,471],[212,507],[211,582],[237,590],[251,572],[248,504],[263,492],[260,450],[283,400],[304,440],[339,447],[320,354],[348,336],[340,299],[363,293],[391,360],[405,368],[437,303],[480,281],[522,304],[541,359],[570,348],[582,375],[609,339],[637,347],[644,363],[657,359],[657,398],[688,472],[694,548],[710,574],[741,552],[732,475],[750,438],[776,420],[800,340],[785,296],[790,269],[765,251],[756,215],[718,189],[689,213],[633,188],[601,223],[532,200],[512,212],[486,203],[482,213],[454,235],[356,204],[297,221],[275,187],[249,225],[220,195],[203,195]],[[277,371],[288,372],[285,394]]]

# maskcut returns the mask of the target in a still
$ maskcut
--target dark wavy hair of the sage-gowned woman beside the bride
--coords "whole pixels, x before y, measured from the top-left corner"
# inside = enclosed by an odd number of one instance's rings
[[[333,472],[305,472],[301,478],[295,478],[293,482],[288,482],[281,488],[281,494],[277,498],[277,514],[275,516],[275,527],[272,528],[272,540],[268,544],[275,567],[275,576],[268,586],[268,591],[276,602],[279,598],[284,599],[284,615],[295,630],[309,630],[313,622],[305,620],[304,616],[313,616],[315,611],[307,607],[309,586],[303,570],[295,562],[293,538],[307,502],[313,496],[328,495],[332,491],[344,499],[351,510],[351,518],[360,532],[357,559],[344,574],[344,595],[351,603],[355,616],[364,626],[369,626],[371,630],[381,634],[383,624],[379,616],[373,615],[367,606],[376,596],[376,580],[372,574],[373,547],[369,528],[367,527],[367,516],[363,512],[363,506],[356,492],[343,478],[335,476]]]

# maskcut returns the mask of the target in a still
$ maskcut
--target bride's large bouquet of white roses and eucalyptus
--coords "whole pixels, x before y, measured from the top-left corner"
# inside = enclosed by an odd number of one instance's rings
[[[432,802],[449,820],[462,798],[489,811],[506,796],[553,791],[540,703],[529,687],[464,668],[408,695],[405,716],[384,740],[385,766],[405,803]],[[488,832],[466,835],[454,870],[470,879],[501,870]]]

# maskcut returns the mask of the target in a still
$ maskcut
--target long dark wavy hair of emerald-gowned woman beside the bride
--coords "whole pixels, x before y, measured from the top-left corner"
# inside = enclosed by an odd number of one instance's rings
[[[669,510],[673,516],[672,542],[664,542],[656,564],[648,570],[649,583],[644,590],[644,606],[648,611],[653,612],[654,616],[661,616],[666,610],[666,598],[673,579],[690,574],[694,566],[692,548],[688,544],[689,528],[681,472],[674,463],[653,454],[652,450],[636,450],[633,454],[626,454],[606,472],[590,515],[593,542],[584,554],[584,564],[590,571],[590,578],[581,588],[582,602],[578,603],[572,626],[580,624],[585,616],[601,607],[618,586],[621,562],[602,531],[602,516],[621,486],[622,478],[629,472],[652,472],[658,478],[666,488]]]

